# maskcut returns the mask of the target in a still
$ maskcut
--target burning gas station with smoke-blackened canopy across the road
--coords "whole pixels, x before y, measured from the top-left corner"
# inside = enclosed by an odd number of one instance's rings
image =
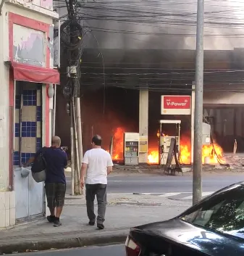
[[[130,49],[124,52],[120,49],[104,49],[103,52],[106,57],[106,96],[103,96],[104,86],[101,85],[103,72],[100,59],[96,59],[97,52],[93,49],[84,52],[82,63],[84,151],[91,146],[90,138],[94,133],[103,136],[106,150],[109,149],[111,136],[114,136],[114,160],[125,162],[122,142],[124,133],[139,133],[138,163],[158,164],[159,157],[155,152],[159,152],[159,140],[156,136],[159,120],[181,120],[180,147],[187,144],[188,159],[184,162],[192,163],[193,147],[190,145],[193,144],[194,137],[195,51]],[[241,49],[205,51],[203,115],[211,124],[214,140],[224,153],[233,151],[232,144],[235,139],[237,139],[237,152],[244,151],[242,73],[235,71],[243,70],[242,54]],[[131,62],[131,59],[136,60]],[[235,63],[235,69],[230,63]],[[91,78],[88,75],[93,73],[94,68],[98,78]],[[145,73],[144,70],[148,71]],[[169,96],[174,104],[168,102],[168,105],[163,106],[163,103],[167,103],[162,102],[161,95]],[[187,104],[184,101],[175,102],[173,96],[190,100]],[[67,136],[69,127],[67,122],[64,122],[66,110],[62,110],[65,102],[61,96],[57,99],[59,99],[57,131],[62,136],[64,144],[69,146],[70,139]],[[162,107],[167,113],[161,113]],[[168,126],[164,125],[164,127]],[[185,137],[187,137],[186,143]],[[211,159],[211,163],[213,162],[216,161]]]

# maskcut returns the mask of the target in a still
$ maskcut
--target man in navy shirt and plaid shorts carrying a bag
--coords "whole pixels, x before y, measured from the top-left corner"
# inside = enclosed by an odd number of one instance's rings
[[[61,226],[59,218],[64,206],[66,192],[66,178],[64,168],[67,168],[67,154],[60,149],[61,139],[58,136],[51,138],[51,147],[44,147],[30,158],[25,166],[30,165],[41,152],[46,160],[46,199],[51,215],[47,217],[55,227]]]

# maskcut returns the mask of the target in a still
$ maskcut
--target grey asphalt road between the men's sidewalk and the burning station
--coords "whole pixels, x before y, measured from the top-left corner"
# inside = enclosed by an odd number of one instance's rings
[[[244,175],[204,176],[203,192],[216,191],[237,181],[244,181]],[[108,193],[171,193],[192,192],[190,176],[122,176],[109,177]],[[67,193],[70,193],[70,178],[67,178]]]

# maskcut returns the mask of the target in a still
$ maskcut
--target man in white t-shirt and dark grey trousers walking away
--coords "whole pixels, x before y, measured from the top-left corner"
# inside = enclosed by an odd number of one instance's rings
[[[101,136],[96,135],[91,141],[93,149],[85,152],[80,174],[80,186],[85,185],[86,209],[89,225],[95,222],[99,229],[104,229],[106,212],[106,186],[107,176],[112,172],[113,162],[111,155],[101,149]],[[85,178],[86,173],[86,178]],[[98,217],[94,213],[94,199],[98,201]]]

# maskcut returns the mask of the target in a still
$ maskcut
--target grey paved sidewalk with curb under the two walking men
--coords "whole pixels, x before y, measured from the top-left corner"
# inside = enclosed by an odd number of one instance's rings
[[[167,220],[188,207],[190,202],[164,197],[108,195],[106,228],[98,231],[87,225],[84,197],[67,196],[63,226],[54,228],[46,220],[38,220],[0,231],[0,254],[123,242],[130,227]]]

